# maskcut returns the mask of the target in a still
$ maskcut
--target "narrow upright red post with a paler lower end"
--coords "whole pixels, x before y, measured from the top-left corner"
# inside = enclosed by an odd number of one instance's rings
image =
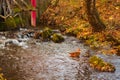
[[[31,4],[33,8],[36,8],[36,0],[31,0]],[[35,10],[31,11],[31,26],[33,27],[36,26],[36,11]]]

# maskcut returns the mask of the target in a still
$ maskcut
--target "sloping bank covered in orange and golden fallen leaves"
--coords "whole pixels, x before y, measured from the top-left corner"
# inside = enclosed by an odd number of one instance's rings
[[[106,30],[102,32],[92,32],[83,0],[60,0],[57,5],[53,3],[40,21],[84,40],[91,48],[101,50],[101,53],[120,55],[120,0],[100,0],[96,2],[96,7],[106,25]]]

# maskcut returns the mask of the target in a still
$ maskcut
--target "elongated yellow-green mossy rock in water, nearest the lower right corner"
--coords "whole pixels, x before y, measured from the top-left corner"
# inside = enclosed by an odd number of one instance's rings
[[[114,72],[115,71],[115,67],[112,64],[103,61],[101,58],[97,56],[90,57],[89,63],[90,63],[90,66],[97,71],[101,71],[101,72]]]

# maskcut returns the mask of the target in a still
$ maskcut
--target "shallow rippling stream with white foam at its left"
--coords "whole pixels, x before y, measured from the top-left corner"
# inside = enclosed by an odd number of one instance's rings
[[[0,33],[0,67],[7,80],[120,80],[119,56],[96,54],[116,67],[114,73],[98,72],[89,67],[89,57],[85,56],[89,47],[80,40],[63,36],[62,43],[43,42],[22,35],[25,31],[7,37]],[[78,48],[80,57],[69,57]]]

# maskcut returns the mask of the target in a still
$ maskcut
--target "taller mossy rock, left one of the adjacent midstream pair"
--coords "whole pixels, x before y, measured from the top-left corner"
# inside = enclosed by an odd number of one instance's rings
[[[51,38],[51,35],[53,34],[53,31],[46,27],[42,32],[41,32],[41,37],[42,37],[42,40],[50,40]]]

